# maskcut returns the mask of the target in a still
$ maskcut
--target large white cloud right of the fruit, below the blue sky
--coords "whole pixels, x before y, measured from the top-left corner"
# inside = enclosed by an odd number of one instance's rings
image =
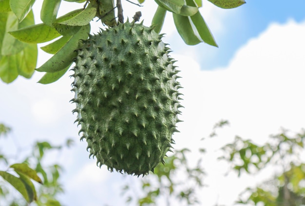
[[[281,127],[300,131],[305,122],[305,23],[290,20],[284,25],[271,24],[259,37],[239,49],[227,68],[200,71],[190,57],[173,55],[179,61],[185,106],[175,135],[176,148],[195,145],[210,152],[204,159],[209,177],[204,189],[203,204],[212,205],[219,195],[219,204],[228,205],[247,186],[262,177],[224,177],[226,165],[217,163],[218,148],[230,142],[235,134],[256,143],[267,141]],[[214,141],[202,141],[213,124],[228,119],[229,129],[220,132]],[[267,178],[265,174],[265,178]],[[231,188],[234,187],[232,190]],[[209,198],[207,195],[209,194]]]

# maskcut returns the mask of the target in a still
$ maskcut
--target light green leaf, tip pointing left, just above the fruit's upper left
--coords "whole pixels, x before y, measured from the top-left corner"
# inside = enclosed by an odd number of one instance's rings
[[[96,7],[92,6],[92,4],[89,4],[87,8],[82,10],[75,17],[65,21],[60,21],[60,22],[57,21],[57,23],[63,25],[69,25],[69,26],[85,26],[89,24],[92,19],[95,18],[95,15],[96,15]]]

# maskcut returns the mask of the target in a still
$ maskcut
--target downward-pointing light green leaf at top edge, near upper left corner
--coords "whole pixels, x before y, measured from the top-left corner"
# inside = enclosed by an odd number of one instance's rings
[[[10,7],[12,12],[14,12],[14,14],[21,22],[31,11],[34,3],[35,0],[10,0]]]

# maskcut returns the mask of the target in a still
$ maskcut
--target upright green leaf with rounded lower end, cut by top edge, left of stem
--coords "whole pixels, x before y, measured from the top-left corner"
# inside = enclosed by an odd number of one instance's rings
[[[43,23],[52,26],[57,17],[60,2],[61,0],[43,0],[40,11],[40,19]]]

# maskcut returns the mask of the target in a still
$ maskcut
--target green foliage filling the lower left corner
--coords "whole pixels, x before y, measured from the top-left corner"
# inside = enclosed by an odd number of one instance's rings
[[[0,134],[8,135],[11,131],[7,126],[0,124]],[[1,136],[0,135],[0,136]],[[64,147],[73,144],[71,139],[66,141]],[[0,205],[4,206],[61,206],[57,195],[63,192],[59,177],[62,167],[58,164],[46,166],[44,157],[51,151],[59,152],[63,146],[53,146],[49,142],[36,142],[31,148],[31,153],[24,156],[21,163],[9,158],[0,148]],[[19,157],[21,149],[18,149]],[[2,167],[3,166],[3,167]],[[6,168],[6,170],[3,170]],[[32,182],[32,181],[35,182]],[[17,190],[20,195],[14,192]]]

